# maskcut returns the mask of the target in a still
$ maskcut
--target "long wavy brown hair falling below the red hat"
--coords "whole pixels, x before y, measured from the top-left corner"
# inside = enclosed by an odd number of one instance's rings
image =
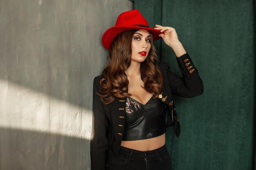
[[[100,81],[99,93],[97,93],[103,104],[110,104],[115,97],[124,98],[131,95],[124,92],[129,84],[125,71],[131,64],[131,43],[136,31],[138,29],[119,33],[112,42],[108,52],[107,66],[102,71],[103,78]],[[153,36],[150,31],[148,32],[151,35],[151,48],[146,60],[140,64],[140,72],[144,75],[144,89],[157,97],[162,91],[163,78],[156,64],[158,57],[153,44]]]

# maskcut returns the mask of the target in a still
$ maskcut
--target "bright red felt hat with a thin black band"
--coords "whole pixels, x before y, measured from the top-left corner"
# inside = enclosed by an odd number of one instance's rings
[[[161,38],[158,35],[162,32],[149,28],[147,20],[141,15],[138,9],[135,9],[121,13],[117,18],[116,25],[103,33],[101,38],[103,46],[109,50],[113,40],[119,33],[132,29],[146,29],[150,31],[154,41]]]

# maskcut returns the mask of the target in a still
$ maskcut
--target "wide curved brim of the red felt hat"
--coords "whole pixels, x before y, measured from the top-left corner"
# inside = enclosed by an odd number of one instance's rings
[[[103,46],[106,49],[110,49],[111,44],[113,42],[113,40],[115,39],[115,37],[124,31],[128,31],[128,30],[132,30],[132,29],[146,29],[148,31],[150,31],[150,33],[152,33],[153,35],[153,40],[158,40],[161,37],[159,37],[158,35],[161,34],[162,32],[157,30],[157,29],[153,29],[153,28],[149,28],[149,27],[144,27],[144,26],[112,26],[109,29],[107,29],[105,31],[105,33],[103,33],[102,38],[101,38],[101,42],[103,44]]]

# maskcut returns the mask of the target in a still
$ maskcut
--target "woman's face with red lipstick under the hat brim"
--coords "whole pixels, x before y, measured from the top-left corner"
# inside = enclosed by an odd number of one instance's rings
[[[132,36],[132,56],[134,62],[144,62],[151,48],[151,36],[145,29],[136,31]]]

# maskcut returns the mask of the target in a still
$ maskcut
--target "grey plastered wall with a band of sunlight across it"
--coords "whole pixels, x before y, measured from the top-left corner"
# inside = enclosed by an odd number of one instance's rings
[[[0,170],[88,170],[101,35],[130,0],[0,0]]]

